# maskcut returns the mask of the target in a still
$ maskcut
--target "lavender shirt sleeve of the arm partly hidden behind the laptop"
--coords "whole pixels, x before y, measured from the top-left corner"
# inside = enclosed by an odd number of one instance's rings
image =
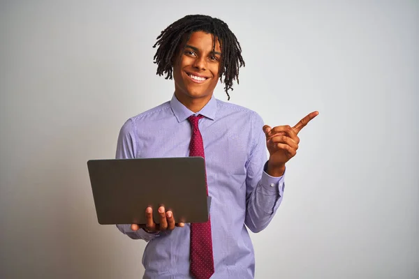
[[[117,159],[133,159],[136,157],[137,149],[137,133],[135,126],[133,125],[133,120],[128,119],[119,132],[117,154],[115,157]],[[156,236],[159,236],[158,233],[148,233],[145,232],[144,229],[133,231],[131,229],[131,224],[117,225],[117,228],[131,239],[144,239],[145,241],[150,241]]]

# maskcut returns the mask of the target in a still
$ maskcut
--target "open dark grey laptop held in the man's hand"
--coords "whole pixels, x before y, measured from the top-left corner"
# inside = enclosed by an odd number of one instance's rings
[[[91,190],[101,225],[145,224],[145,209],[171,210],[176,223],[208,220],[202,157],[89,160]]]

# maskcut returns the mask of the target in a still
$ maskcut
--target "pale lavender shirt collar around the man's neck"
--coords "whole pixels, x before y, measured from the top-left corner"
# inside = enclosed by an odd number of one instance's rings
[[[178,122],[186,120],[191,115],[198,114],[202,114],[208,119],[214,120],[216,113],[216,99],[214,95],[212,95],[207,105],[205,105],[199,112],[193,113],[191,110],[189,110],[189,108],[180,103],[179,100],[177,100],[175,94],[173,94],[172,100],[170,100],[170,107],[172,108],[172,112],[175,114]]]

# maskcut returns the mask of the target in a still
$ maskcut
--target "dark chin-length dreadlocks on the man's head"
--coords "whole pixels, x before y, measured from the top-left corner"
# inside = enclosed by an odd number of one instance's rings
[[[178,47],[187,34],[186,41],[191,38],[191,33],[195,31],[204,31],[210,33],[217,38],[221,47],[221,66],[220,66],[220,81],[226,86],[224,90],[230,100],[228,90],[233,90],[233,80],[239,83],[239,68],[244,66],[242,57],[242,47],[237,40],[234,33],[228,28],[226,22],[218,18],[210,17],[208,15],[186,15],[186,17],[177,20],[170,24],[166,29],[161,31],[161,34],[156,38],[157,42],[153,47],[157,48],[154,55],[154,63],[157,64],[157,75],[166,73],[166,80],[172,80],[173,67],[172,62],[175,61]],[[215,40],[214,46],[215,49]]]

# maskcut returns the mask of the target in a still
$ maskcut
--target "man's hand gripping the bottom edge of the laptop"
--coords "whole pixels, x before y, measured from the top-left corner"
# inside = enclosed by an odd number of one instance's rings
[[[159,216],[160,222],[159,224],[154,223],[153,220],[153,209],[151,207],[147,207],[145,209],[145,225],[138,225],[138,224],[131,224],[131,229],[133,231],[137,231],[138,229],[142,228],[146,232],[164,232],[166,230],[175,229],[175,227],[184,227],[184,223],[175,223],[175,217],[173,216],[172,211],[167,211],[163,206],[159,207]]]

